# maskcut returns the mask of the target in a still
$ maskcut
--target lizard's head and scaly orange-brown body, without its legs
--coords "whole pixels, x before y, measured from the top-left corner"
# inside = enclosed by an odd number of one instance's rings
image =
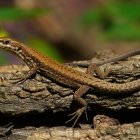
[[[0,48],[16,54],[30,69],[36,66],[38,71],[43,73],[43,75],[59,83],[65,83],[68,86],[87,85],[97,90],[104,91],[104,93],[111,94],[123,94],[140,90],[140,79],[123,84],[106,82],[62,65],[49,57],[43,56],[36,50],[11,39],[0,38]]]

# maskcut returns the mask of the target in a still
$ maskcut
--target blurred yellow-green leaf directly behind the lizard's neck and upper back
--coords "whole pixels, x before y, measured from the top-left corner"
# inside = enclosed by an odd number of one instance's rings
[[[36,50],[38,50],[39,52],[41,52],[46,56],[52,57],[60,62],[63,61],[58,50],[56,50],[51,44],[49,44],[47,41],[44,41],[43,39],[35,37],[28,38],[27,44],[34,47]]]

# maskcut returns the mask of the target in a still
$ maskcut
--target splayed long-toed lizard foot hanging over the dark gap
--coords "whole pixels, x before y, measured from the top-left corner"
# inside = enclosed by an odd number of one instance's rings
[[[69,114],[69,116],[72,116],[72,118],[69,119],[66,123],[69,123],[69,122],[71,122],[72,120],[75,119],[75,121],[74,121],[74,123],[72,125],[72,127],[74,127],[75,124],[77,123],[77,121],[79,120],[79,118],[81,117],[81,115],[83,114],[83,112],[85,112],[86,119],[88,120],[86,109],[87,109],[86,107],[82,107],[82,108],[76,110],[75,112],[73,112],[72,114]]]

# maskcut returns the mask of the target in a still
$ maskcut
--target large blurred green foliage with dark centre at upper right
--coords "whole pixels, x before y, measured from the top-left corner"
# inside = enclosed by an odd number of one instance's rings
[[[104,39],[140,39],[140,3],[113,1],[88,9],[81,15],[78,27],[85,31],[93,26],[102,29]]]

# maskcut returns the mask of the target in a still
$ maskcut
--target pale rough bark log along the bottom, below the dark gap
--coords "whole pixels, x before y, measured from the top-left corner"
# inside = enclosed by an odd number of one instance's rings
[[[12,130],[9,140],[139,140],[140,123],[99,126],[83,126],[79,129],[68,127],[26,127]],[[7,140],[3,138],[3,140]]]

